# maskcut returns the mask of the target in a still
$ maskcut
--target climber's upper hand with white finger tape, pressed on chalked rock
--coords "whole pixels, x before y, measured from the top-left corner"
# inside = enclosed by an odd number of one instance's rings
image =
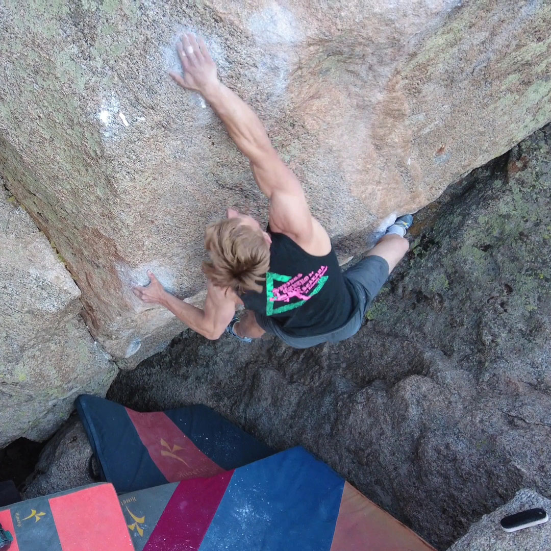
[[[192,33],[183,34],[176,44],[183,69],[183,77],[176,71],[169,74],[182,88],[195,90],[203,96],[218,84],[216,64],[210,57],[203,39],[199,41]]]

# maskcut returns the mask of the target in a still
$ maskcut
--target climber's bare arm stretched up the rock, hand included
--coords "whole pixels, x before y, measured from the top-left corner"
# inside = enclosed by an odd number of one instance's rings
[[[183,35],[177,49],[183,76],[171,72],[171,77],[182,88],[198,91],[208,101],[237,148],[249,158],[258,187],[270,199],[272,230],[290,235],[308,252],[327,253],[325,249],[331,249],[329,237],[312,218],[299,180],[279,158],[251,107],[219,82],[203,40],[197,42],[192,34]]]

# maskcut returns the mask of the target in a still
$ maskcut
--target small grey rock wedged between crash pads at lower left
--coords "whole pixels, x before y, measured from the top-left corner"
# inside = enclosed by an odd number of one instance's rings
[[[93,452],[78,417],[72,417],[44,446],[35,471],[25,481],[23,499],[38,498],[98,482],[91,476]]]

